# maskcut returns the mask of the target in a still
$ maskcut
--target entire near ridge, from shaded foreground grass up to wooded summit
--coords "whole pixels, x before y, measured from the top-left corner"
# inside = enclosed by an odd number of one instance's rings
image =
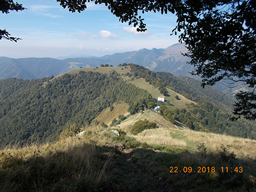
[[[256,187],[255,124],[230,122],[232,101],[189,77],[135,64],[74,69],[0,80],[0,103],[3,191]]]

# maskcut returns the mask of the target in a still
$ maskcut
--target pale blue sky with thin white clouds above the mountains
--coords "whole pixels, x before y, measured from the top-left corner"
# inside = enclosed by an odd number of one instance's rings
[[[137,32],[121,23],[105,5],[94,5],[79,12],[63,9],[55,0],[18,0],[26,10],[0,16],[0,29],[19,37],[17,43],[0,40],[0,56],[68,57],[104,56],[142,48],[167,48],[178,43],[170,36],[176,16],[170,13],[143,14],[146,32]]]

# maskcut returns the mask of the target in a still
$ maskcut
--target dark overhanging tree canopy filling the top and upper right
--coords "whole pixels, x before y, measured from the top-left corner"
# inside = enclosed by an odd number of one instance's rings
[[[69,11],[84,11],[91,0],[57,0]],[[195,66],[193,75],[202,78],[202,86],[231,80],[228,86],[249,86],[249,91],[236,94],[234,114],[256,119],[256,1],[243,0],[169,0],[169,1],[110,1],[105,4],[121,22],[129,22],[137,31],[146,31],[141,14],[171,12],[177,16],[177,25],[171,35],[179,32],[179,42],[185,43]],[[230,81],[229,81],[230,82]],[[236,119],[236,118],[233,118]]]

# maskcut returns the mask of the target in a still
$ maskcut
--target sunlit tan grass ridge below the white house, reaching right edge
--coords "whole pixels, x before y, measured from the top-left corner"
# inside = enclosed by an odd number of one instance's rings
[[[219,135],[216,133],[205,133],[192,131],[189,128],[175,126],[162,115],[157,112],[146,110],[143,113],[135,115],[128,115],[128,105],[123,102],[114,103],[114,109],[110,112],[106,108],[97,117],[98,122],[105,122],[110,126],[112,120],[117,118],[119,114],[127,115],[127,119],[123,120],[121,124],[112,129],[119,128],[127,133],[128,136],[134,137],[138,141],[146,142],[148,144],[163,145],[163,146],[177,146],[184,149],[195,151],[195,148],[200,143],[204,143],[209,151],[218,151],[223,144],[234,152],[237,157],[252,157],[256,156],[256,141],[251,139],[243,139],[239,137],[232,137],[229,135]],[[138,120],[148,119],[158,125],[159,128],[152,130],[144,130],[138,135],[130,133],[131,127]],[[102,121],[101,121],[102,120]]]

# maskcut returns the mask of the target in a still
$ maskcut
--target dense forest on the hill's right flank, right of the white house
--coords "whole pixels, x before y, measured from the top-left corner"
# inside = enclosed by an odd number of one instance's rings
[[[137,78],[144,78],[159,90],[169,88],[199,104],[191,104],[188,108],[176,108],[171,111],[168,109],[170,104],[165,102],[165,107],[160,107],[160,112],[170,122],[174,123],[175,119],[195,131],[256,139],[255,122],[246,119],[232,122],[230,118],[233,115],[233,99],[220,91],[210,86],[203,89],[200,81],[190,77],[176,77],[171,73],[152,72],[139,65],[131,65],[131,73]]]

